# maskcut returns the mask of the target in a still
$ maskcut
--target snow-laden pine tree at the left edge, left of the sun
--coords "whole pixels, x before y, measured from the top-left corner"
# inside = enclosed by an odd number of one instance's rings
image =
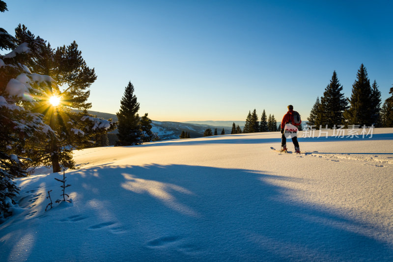
[[[6,4],[1,3],[1,11]],[[38,135],[55,135],[43,122],[43,115],[32,112],[37,99],[56,86],[49,76],[32,74],[23,61],[37,56],[43,40],[30,37],[17,46],[17,39],[0,28],[0,50],[13,50],[0,55],[0,219],[7,215],[12,198],[19,192],[13,182],[26,175],[20,157],[26,150],[27,141],[37,141]]]

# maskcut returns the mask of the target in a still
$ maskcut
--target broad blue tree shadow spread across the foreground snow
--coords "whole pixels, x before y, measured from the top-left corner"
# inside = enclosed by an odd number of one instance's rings
[[[307,180],[252,170],[158,164],[96,166],[68,172],[67,177],[78,197],[67,212],[51,210],[51,215],[59,221],[79,219],[79,214],[90,218],[58,222],[51,232],[32,223],[36,233],[30,261],[43,254],[49,261],[393,259],[392,238],[381,237],[386,235],[381,225],[297,201],[294,194],[302,192],[277,185]],[[76,223],[84,223],[84,228]],[[30,233],[12,234],[0,241],[1,261],[15,255],[9,245],[18,245]],[[73,247],[51,249],[42,244],[51,241]]]

